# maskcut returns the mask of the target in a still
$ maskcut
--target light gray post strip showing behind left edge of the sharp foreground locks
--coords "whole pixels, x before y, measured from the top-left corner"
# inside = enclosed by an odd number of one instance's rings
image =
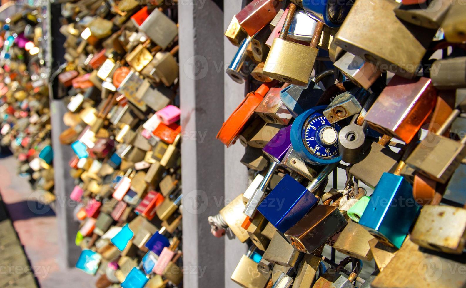
[[[244,7],[245,0],[225,0],[224,3],[224,21],[223,33],[230,24],[233,16]],[[236,54],[238,48],[234,46],[226,37],[223,37],[224,42],[224,59],[225,65],[223,71],[228,67]],[[233,110],[236,109],[239,103],[244,99],[246,92],[246,84],[238,84],[234,82],[230,76],[223,73],[225,78],[225,120],[230,116]],[[245,152],[245,148],[239,143],[226,148],[225,147],[225,199],[233,200],[240,193],[247,189],[247,168],[241,164],[240,159]],[[241,256],[246,253],[247,245],[238,241],[238,239],[228,239],[225,237],[225,285],[226,288],[239,287],[238,284],[230,280],[236,265],[241,259]]]

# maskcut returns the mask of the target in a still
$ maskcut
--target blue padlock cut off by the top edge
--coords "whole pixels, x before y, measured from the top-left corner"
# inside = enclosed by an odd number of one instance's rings
[[[302,0],[302,7],[315,20],[329,27],[340,27],[353,6],[353,0]]]

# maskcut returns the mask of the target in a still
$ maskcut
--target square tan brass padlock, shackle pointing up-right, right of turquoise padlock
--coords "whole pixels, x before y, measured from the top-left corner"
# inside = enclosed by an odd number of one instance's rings
[[[459,115],[455,109],[436,133],[429,132],[406,159],[406,164],[425,176],[446,183],[466,157],[466,137],[461,142],[441,136]]]

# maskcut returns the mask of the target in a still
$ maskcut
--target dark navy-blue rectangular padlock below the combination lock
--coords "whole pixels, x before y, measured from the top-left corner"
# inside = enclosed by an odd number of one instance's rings
[[[318,199],[306,187],[286,174],[257,210],[281,233],[311,210]]]

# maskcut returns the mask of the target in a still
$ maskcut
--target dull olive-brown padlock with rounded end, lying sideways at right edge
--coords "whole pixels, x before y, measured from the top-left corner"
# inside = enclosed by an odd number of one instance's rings
[[[437,89],[466,88],[466,57],[437,60],[430,71],[432,84]]]

